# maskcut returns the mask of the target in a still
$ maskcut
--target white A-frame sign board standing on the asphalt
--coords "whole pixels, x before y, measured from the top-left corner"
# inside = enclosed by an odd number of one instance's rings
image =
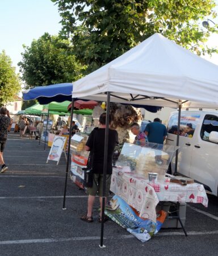
[[[66,137],[61,137],[61,136],[54,137],[52,147],[48,155],[47,163],[48,163],[48,160],[57,161],[57,164],[59,163],[61,154],[64,150],[65,142],[66,142]]]

